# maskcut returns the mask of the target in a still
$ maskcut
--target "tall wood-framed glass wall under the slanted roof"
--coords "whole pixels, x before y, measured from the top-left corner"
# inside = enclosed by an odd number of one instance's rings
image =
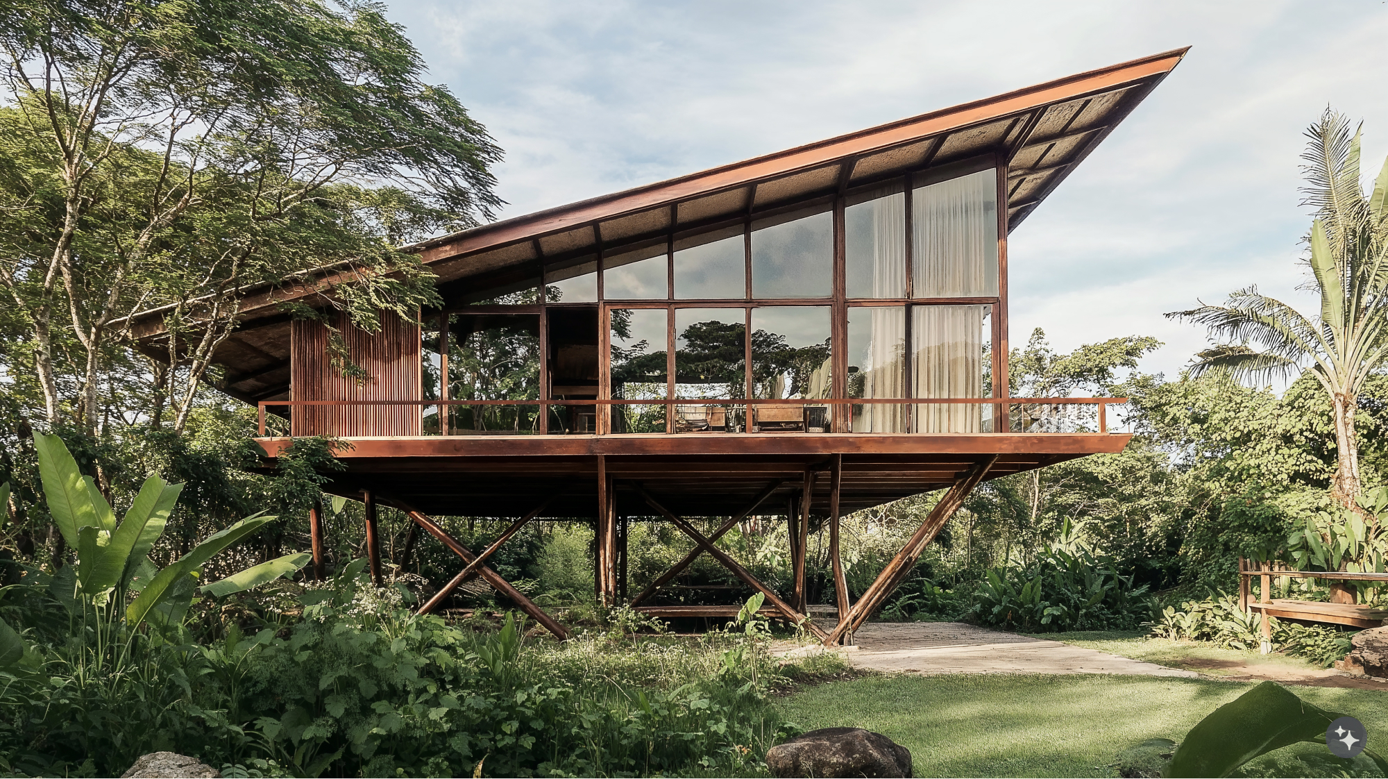
[[[995,404],[919,401],[991,394],[997,171],[901,176],[820,203],[601,260],[551,257],[543,286],[518,275],[511,289],[490,290],[473,305],[527,314],[455,312],[447,387],[437,386],[440,337],[426,333],[426,397],[537,404],[458,404],[433,429],[991,430]]]

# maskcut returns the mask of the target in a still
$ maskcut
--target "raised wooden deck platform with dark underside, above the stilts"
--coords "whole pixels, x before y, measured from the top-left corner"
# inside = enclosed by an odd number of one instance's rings
[[[618,511],[648,515],[644,487],[687,517],[730,515],[780,482],[766,511],[798,494],[806,471],[829,471],[843,455],[841,511],[856,511],[948,487],[970,468],[999,455],[987,478],[1117,453],[1127,433],[645,433],[371,436],[341,439],[346,471],[328,474],[325,490],[372,490],[432,515],[518,517],[559,494],[543,518],[597,514],[598,462],[613,480]],[[273,460],[290,437],[260,437]],[[271,465],[266,461],[266,467]],[[781,494],[783,493],[783,494]],[[812,511],[829,514],[829,492]]]

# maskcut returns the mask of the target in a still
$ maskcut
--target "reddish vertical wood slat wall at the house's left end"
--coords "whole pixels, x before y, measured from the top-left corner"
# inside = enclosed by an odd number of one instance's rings
[[[322,322],[296,319],[290,328],[290,392],[293,400],[419,400],[421,332],[389,311],[380,315],[380,332],[354,326],[346,312],[337,312],[335,326],[341,333],[351,361],[366,371],[359,380],[343,376],[332,365],[328,328]],[[290,430],[294,436],[418,436],[422,435],[419,405],[296,405]]]

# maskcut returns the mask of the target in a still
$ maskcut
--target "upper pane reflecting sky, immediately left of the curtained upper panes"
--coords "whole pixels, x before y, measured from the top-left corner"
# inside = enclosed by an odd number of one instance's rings
[[[752,297],[829,297],[833,283],[833,214],[752,225]]]

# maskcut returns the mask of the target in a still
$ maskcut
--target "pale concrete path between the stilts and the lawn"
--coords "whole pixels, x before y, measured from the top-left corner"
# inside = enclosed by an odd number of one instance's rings
[[[962,622],[872,622],[847,653],[854,668],[899,673],[1131,673],[1199,676],[1060,642],[1001,633]],[[801,654],[783,646],[777,654]]]

